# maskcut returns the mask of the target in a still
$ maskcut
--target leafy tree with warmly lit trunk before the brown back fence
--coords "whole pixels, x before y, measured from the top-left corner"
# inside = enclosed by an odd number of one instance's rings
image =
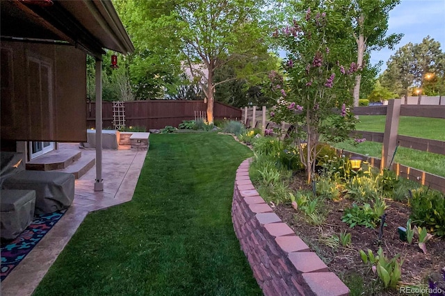
[[[166,60],[175,60],[182,69],[187,68],[205,94],[209,122],[213,122],[216,85],[226,82],[214,81],[216,70],[240,60],[245,64],[242,74],[248,76],[257,72],[255,65],[268,59],[261,1],[130,1],[137,3],[132,19],[138,19],[137,25],[143,27],[138,32],[145,34],[141,40],[149,56],[162,60],[164,54]]]

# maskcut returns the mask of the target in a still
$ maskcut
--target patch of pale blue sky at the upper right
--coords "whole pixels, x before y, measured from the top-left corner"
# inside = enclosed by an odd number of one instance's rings
[[[387,60],[397,49],[408,42],[421,43],[428,35],[439,41],[442,51],[445,51],[445,0],[401,0],[401,3],[389,12],[387,34],[391,33],[404,34],[394,50],[385,48],[371,53],[372,65],[383,60],[380,72],[387,68]]]

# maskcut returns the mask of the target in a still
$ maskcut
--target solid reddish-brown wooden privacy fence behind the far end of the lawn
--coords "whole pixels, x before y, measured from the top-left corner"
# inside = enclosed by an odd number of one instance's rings
[[[194,120],[197,112],[205,113],[204,101],[149,100],[125,101],[125,125],[143,126],[149,129],[163,129],[165,126],[178,126],[183,120]],[[95,102],[87,103],[86,115],[88,129],[95,128]],[[102,104],[102,126],[113,127],[113,102]],[[213,104],[215,120],[239,120],[241,110],[215,101]]]

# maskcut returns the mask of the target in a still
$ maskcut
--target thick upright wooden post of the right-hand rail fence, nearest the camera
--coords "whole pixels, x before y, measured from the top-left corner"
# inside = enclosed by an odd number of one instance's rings
[[[380,170],[389,168],[394,151],[397,146],[398,120],[401,115],[401,99],[391,99],[388,101],[387,120],[385,123],[385,133],[383,135],[382,162]]]

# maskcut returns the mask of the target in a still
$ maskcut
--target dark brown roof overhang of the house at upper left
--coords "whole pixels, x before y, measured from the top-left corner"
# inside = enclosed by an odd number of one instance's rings
[[[53,0],[42,7],[31,1],[1,1],[1,38],[31,42],[68,42],[100,58],[104,49],[134,51],[111,1]]]

